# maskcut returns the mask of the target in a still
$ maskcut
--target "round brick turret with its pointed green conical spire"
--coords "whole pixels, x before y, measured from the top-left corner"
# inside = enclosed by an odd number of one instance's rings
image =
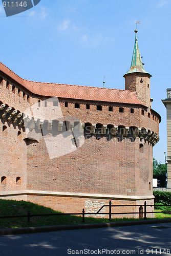
[[[135,45],[133,51],[133,57],[131,62],[131,68],[123,76],[125,78],[125,90],[136,91],[138,98],[144,103],[144,105],[151,108],[150,101],[150,78],[151,75],[144,70],[144,63],[142,63],[140,50],[137,40],[137,32],[135,30]]]

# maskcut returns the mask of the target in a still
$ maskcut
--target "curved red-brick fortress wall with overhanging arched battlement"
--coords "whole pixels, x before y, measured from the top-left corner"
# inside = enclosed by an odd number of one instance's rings
[[[8,194],[8,198],[26,200],[27,195],[29,201],[70,212],[72,209],[96,209],[119,196],[122,196],[120,201],[113,202],[139,204],[145,197],[153,201],[153,145],[158,141],[160,118],[155,111],[145,105],[62,98],[58,106],[54,106],[51,99],[33,95],[8,77],[2,75],[2,78],[1,105],[5,105],[0,123],[1,177],[5,177],[1,182],[3,196]],[[14,121],[19,113],[35,104],[37,111],[45,111],[44,119],[48,113],[53,121],[50,130],[45,120],[40,127],[37,123],[31,129],[33,136],[29,137],[22,119]],[[79,108],[75,108],[75,104],[77,107],[79,104]],[[53,112],[59,106],[65,121],[54,120]],[[85,140],[82,146],[75,148],[79,141],[73,140],[72,131],[80,131],[80,128]],[[62,133],[66,130],[71,133],[67,137],[74,151],[50,159],[46,139],[58,136],[63,141]],[[30,194],[12,195],[10,191],[15,190],[30,191]],[[37,195],[33,191],[38,191]],[[104,198],[99,199],[98,194]]]

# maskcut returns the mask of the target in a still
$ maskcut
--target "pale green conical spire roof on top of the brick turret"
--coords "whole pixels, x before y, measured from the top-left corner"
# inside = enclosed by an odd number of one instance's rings
[[[126,74],[140,72],[140,73],[147,73],[143,68],[142,60],[141,60],[141,54],[138,46],[138,40],[137,40],[137,32],[138,30],[135,30],[135,45],[134,45],[134,51],[133,51],[133,57],[131,62],[131,68],[129,71],[126,72]],[[126,75],[125,74],[125,75]]]

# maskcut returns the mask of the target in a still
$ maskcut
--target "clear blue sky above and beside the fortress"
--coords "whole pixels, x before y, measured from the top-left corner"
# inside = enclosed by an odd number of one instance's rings
[[[135,22],[145,70],[152,75],[152,108],[161,117],[154,157],[164,162],[170,84],[170,0],[41,0],[11,17],[1,4],[0,61],[19,76],[45,82],[124,89]]]

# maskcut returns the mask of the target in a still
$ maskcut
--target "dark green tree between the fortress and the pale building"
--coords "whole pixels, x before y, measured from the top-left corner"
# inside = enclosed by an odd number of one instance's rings
[[[167,164],[158,163],[158,161],[153,158],[153,178],[158,179],[158,187],[166,186],[166,168]]]

